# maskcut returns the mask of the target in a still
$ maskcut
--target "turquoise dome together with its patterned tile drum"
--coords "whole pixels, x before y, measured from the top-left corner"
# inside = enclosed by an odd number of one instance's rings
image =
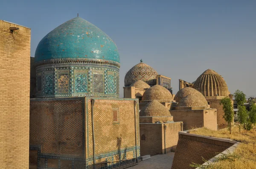
[[[119,53],[103,31],[76,17],[35,51],[37,97],[119,97]]]

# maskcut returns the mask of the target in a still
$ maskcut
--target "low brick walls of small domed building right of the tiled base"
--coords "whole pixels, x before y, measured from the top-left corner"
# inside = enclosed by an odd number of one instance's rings
[[[140,123],[140,154],[157,155],[165,153],[164,135],[166,134],[166,153],[177,145],[181,123],[142,124]],[[164,134],[164,126],[166,133]],[[144,136],[143,136],[144,135]],[[145,139],[144,139],[145,138]]]

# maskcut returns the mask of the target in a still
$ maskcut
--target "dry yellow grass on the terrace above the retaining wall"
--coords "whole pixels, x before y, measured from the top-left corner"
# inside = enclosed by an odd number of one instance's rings
[[[241,129],[240,133],[238,126],[235,125],[232,127],[232,135],[227,129],[212,131],[206,128],[190,130],[189,133],[230,138],[241,142],[234,152],[239,158],[234,158],[232,161],[228,159],[218,161],[207,169],[256,169],[256,127],[250,131]]]

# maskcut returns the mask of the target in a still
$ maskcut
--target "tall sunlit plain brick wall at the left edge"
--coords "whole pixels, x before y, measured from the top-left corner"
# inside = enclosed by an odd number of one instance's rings
[[[13,33],[10,27],[19,28]],[[0,165],[29,167],[30,28],[0,20]]]

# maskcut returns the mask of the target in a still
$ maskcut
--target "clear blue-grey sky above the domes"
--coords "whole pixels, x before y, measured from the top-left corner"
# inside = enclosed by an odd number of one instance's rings
[[[23,0],[1,2],[0,20],[32,29],[31,56],[38,42],[77,16],[116,43],[125,73],[143,59],[159,74],[193,82],[208,68],[229,90],[256,96],[255,0]]]

